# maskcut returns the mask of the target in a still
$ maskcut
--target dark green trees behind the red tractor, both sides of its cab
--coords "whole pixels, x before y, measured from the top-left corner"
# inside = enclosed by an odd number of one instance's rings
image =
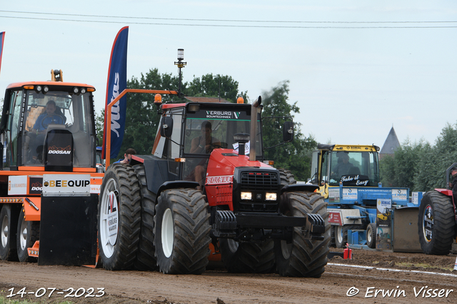
[[[127,88],[146,90],[176,90],[179,87],[179,77],[159,70],[151,69],[141,73],[141,77],[132,77],[127,81]],[[191,82],[182,83],[181,92],[194,97],[220,97],[236,103],[242,96],[249,103],[246,92],[238,90],[238,82],[228,75],[206,74],[201,78],[195,77]],[[261,94],[263,117],[289,116],[293,117],[300,109],[295,103],[288,101],[288,80],[278,83],[271,90]],[[183,102],[175,95],[162,95],[162,102]],[[159,115],[154,105],[154,95],[129,93],[127,95],[126,126],[124,140],[119,151],[118,159],[124,157],[124,152],[133,147],[138,154],[151,154],[159,125]],[[285,120],[269,118],[263,121],[264,147],[271,147],[282,142],[282,124]],[[97,135],[102,142],[104,126],[104,110],[96,114]],[[304,136],[301,124],[294,123],[294,140],[291,143],[265,150],[265,157],[275,162],[274,167],[290,169],[297,180],[306,180],[311,172],[311,152],[317,147],[316,140],[310,135]],[[116,159],[117,160],[117,159]]]

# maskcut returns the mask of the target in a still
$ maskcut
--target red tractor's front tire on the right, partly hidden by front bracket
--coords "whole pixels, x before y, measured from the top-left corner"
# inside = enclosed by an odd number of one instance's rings
[[[281,276],[320,278],[327,264],[331,239],[326,202],[316,192],[287,192],[281,196],[280,211],[286,216],[320,214],[325,221],[323,241],[305,239],[301,227],[295,227],[291,243],[275,242],[276,269]]]

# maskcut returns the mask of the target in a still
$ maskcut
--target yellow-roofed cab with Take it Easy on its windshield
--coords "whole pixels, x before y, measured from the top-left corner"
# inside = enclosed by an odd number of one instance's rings
[[[311,162],[311,183],[377,187],[378,150],[376,146],[318,145]]]

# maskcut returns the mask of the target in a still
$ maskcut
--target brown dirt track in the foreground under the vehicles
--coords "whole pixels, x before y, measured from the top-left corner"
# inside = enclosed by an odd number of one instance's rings
[[[332,248],[331,251],[336,250]],[[329,260],[326,272],[317,279],[232,274],[223,270],[206,271],[201,276],[176,276],[1,261],[0,289],[1,295],[6,296],[11,293],[10,288],[17,293],[26,287],[25,291],[32,293],[29,295],[31,300],[46,298],[46,303],[62,300],[69,292],[64,295],[57,292],[66,288],[95,288],[93,295],[97,294],[96,288],[104,288],[106,294],[100,298],[84,298],[87,292],[79,298],[66,298],[75,303],[457,303],[457,271],[451,271],[455,261],[455,255],[356,250],[351,261],[340,257]],[[356,265],[365,268],[354,267]],[[432,268],[422,267],[426,265]],[[34,295],[44,292],[39,288],[46,288],[46,294],[41,298]],[[51,290],[47,288],[61,290],[54,291],[49,299]],[[346,295],[354,292],[354,288],[359,290],[358,294]],[[427,297],[424,289],[431,289],[432,297]],[[381,291],[375,298],[376,290],[384,290],[384,293],[393,290],[393,293],[383,297]],[[440,290],[443,290],[441,294]],[[80,289],[79,293],[83,291]],[[19,298],[21,296],[16,295],[12,299]]]

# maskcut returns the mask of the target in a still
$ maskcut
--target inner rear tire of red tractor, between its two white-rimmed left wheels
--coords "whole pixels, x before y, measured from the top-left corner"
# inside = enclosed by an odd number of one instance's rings
[[[141,234],[135,268],[139,271],[157,270],[156,248],[154,247],[154,215],[156,214],[156,194],[148,189],[143,164],[134,166],[141,187]]]

